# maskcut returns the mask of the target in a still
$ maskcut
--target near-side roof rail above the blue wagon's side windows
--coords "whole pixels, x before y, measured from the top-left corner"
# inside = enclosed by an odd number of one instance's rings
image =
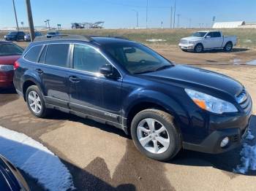
[[[37,36],[34,39],[34,42],[39,41],[51,41],[51,40],[83,40],[87,42],[94,41],[90,36],[82,36],[77,34],[58,34],[55,36],[47,37],[47,36]]]

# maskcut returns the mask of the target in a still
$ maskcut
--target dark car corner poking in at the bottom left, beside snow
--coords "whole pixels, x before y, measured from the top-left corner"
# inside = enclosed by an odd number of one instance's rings
[[[0,155],[0,190],[29,191],[29,186],[17,168]]]

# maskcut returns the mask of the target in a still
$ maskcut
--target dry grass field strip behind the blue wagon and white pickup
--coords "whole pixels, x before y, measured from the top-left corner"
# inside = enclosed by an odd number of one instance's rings
[[[102,36],[124,36],[144,44],[178,44],[182,37],[189,36],[198,28],[193,29],[70,29],[62,30],[62,34],[80,34],[80,35],[102,35]],[[234,28],[223,29],[225,35],[238,36],[238,47],[252,48],[256,47],[256,29],[252,28]],[[0,31],[0,38],[3,38],[6,32]],[[146,39],[165,39],[165,42],[147,42]]]

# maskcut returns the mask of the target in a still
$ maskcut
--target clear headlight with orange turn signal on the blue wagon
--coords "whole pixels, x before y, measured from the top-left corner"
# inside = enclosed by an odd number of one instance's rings
[[[216,114],[222,114],[225,112],[238,112],[236,106],[228,101],[224,101],[214,96],[208,95],[206,93],[201,93],[195,90],[185,89],[187,95],[192,98],[197,106],[201,109],[205,109],[208,112],[213,112]]]

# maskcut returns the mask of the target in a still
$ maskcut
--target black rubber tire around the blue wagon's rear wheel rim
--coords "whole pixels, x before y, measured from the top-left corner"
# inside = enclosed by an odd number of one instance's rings
[[[41,102],[41,106],[42,106],[42,108],[41,108],[41,110],[40,110],[39,113],[35,113],[35,112],[31,109],[31,106],[29,106],[29,93],[30,93],[31,91],[34,91],[34,92],[37,93],[37,95],[39,95],[40,102]],[[49,114],[49,112],[50,112],[50,110],[45,107],[45,101],[44,101],[44,98],[43,98],[43,96],[42,96],[42,93],[41,93],[41,91],[39,90],[39,88],[38,88],[36,85],[31,85],[31,86],[28,87],[28,89],[26,90],[26,104],[27,104],[27,106],[29,107],[30,112],[31,112],[32,114],[34,114],[35,117],[44,118],[44,117],[46,117],[46,116]]]

